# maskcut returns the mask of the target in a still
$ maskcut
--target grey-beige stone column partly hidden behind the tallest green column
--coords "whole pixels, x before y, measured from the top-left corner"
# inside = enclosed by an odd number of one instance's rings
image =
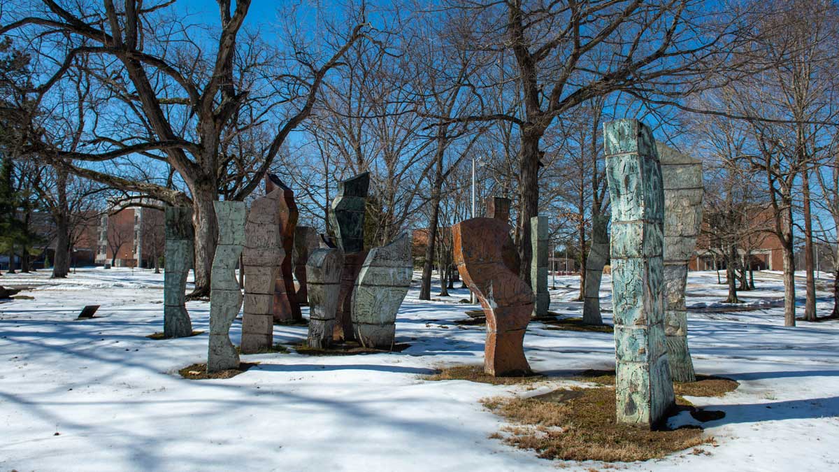
[[[702,223],[702,161],[658,143],[664,180],[664,334],[670,375],[694,382],[696,374],[687,347],[685,286],[687,265]]]

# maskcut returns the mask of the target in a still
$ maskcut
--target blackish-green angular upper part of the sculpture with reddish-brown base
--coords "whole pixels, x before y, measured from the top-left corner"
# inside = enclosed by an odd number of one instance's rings
[[[368,172],[338,184],[338,196],[332,201],[329,218],[332,228],[335,229],[338,247],[344,254],[357,253],[364,249],[364,207],[367,205],[369,187]]]

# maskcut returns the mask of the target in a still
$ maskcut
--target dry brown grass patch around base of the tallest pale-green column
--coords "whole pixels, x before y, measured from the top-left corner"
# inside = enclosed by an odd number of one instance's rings
[[[571,388],[532,398],[482,401],[512,425],[503,442],[533,449],[544,459],[632,462],[712,443],[702,430],[649,431],[615,420],[614,387]]]

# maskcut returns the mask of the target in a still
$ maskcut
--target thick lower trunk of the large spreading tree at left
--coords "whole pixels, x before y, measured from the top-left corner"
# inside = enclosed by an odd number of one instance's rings
[[[212,260],[216,255],[218,221],[212,202],[216,200],[213,186],[198,186],[192,196],[192,223],[195,226],[195,290],[187,300],[210,296]]]

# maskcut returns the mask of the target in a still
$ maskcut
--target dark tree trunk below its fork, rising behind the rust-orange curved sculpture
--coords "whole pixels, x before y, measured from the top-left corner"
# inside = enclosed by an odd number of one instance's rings
[[[519,215],[516,221],[516,246],[519,248],[519,277],[531,286],[530,262],[533,244],[530,241],[530,218],[539,214],[539,139],[542,132],[523,128],[519,151]]]

